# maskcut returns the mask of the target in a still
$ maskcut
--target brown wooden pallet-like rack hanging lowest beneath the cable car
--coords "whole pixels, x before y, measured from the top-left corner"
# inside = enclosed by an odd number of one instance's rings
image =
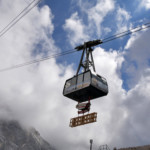
[[[70,127],[76,127],[88,123],[93,123],[97,121],[97,113],[91,113],[83,116],[78,116],[70,120]]]

